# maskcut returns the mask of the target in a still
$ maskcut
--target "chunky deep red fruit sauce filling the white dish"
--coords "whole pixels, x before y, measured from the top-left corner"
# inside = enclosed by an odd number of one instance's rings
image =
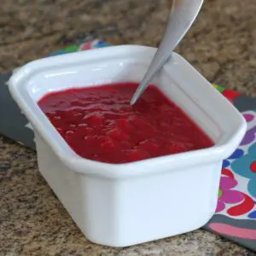
[[[39,107],[80,156],[126,163],[208,148],[212,141],[154,86],[130,105],[135,83],[62,90]]]

